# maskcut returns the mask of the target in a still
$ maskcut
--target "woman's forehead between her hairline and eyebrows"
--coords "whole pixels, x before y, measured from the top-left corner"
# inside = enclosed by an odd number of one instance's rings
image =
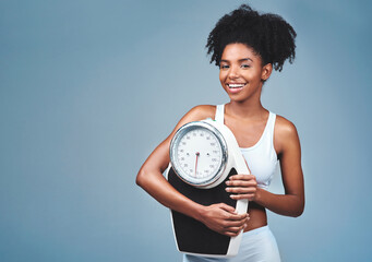
[[[252,47],[241,43],[227,45],[221,55],[221,60],[228,61],[239,60],[242,58],[250,58],[252,60],[261,59]]]

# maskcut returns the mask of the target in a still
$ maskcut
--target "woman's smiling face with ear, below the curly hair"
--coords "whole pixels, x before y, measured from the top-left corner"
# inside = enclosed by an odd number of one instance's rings
[[[271,63],[262,63],[260,55],[244,44],[229,44],[225,47],[219,81],[231,100],[260,99],[263,82],[273,70]]]

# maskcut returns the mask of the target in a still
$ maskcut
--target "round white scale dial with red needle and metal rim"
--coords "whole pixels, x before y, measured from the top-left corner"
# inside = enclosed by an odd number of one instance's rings
[[[195,187],[208,186],[225,170],[225,139],[207,122],[187,123],[177,131],[170,143],[170,160],[184,182]]]

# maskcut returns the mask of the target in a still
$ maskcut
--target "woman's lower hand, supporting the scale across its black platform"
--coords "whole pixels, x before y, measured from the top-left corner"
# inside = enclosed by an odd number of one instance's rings
[[[238,236],[248,221],[247,213],[238,215],[232,206],[225,203],[205,206],[202,214],[202,223],[209,229],[229,237]]]

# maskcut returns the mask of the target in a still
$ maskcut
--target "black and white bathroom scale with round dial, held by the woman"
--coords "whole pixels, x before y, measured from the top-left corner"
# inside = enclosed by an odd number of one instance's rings
[[[189,122],[175,134],[169,147],[166,177],[179,192],[196,203],[226,203],[238,214],[247,213],[248,200],[232,200],[225,181],[250,174],[238,142],[228,127],[212,119]],[[228,237],[203,223],[171,210],[177,248],[180,252],[229,258],[239,251],[242,234]]]

